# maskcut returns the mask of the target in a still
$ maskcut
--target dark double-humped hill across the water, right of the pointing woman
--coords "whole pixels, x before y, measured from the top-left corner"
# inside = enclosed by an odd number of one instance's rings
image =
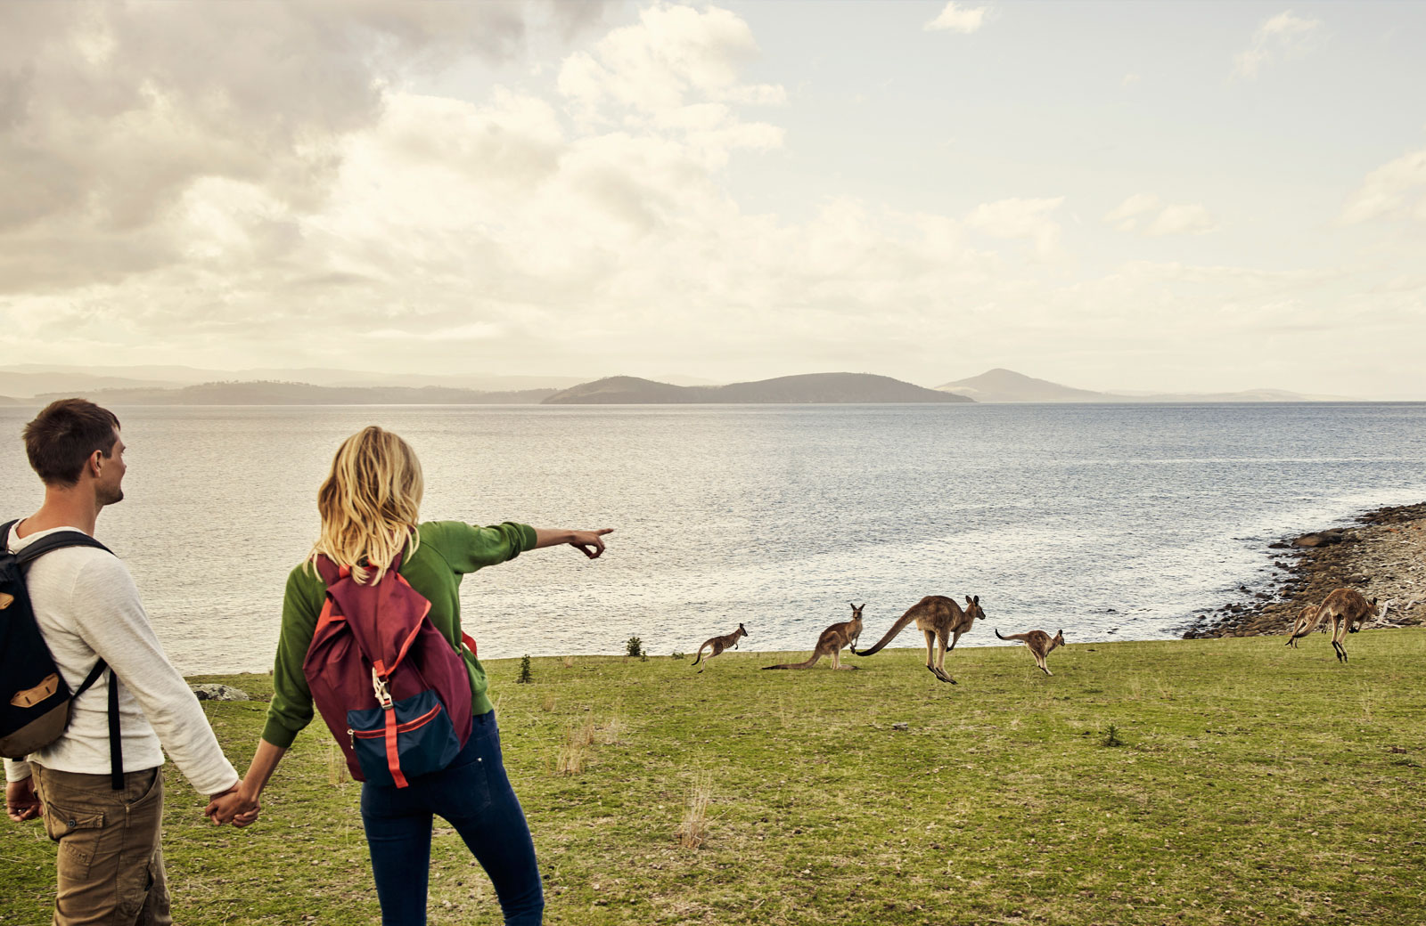
[[[673,386],[637,376],[609,376],[545,399],[545,405],[851,405],[893,402],[970,402],[935,389],[873,373],[807,373],[729,386]]]

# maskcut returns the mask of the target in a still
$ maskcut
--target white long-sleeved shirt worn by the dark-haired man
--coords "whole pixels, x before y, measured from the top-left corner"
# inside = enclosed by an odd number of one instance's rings
[[[16,539],[19,553],[57,527]],[[101,657],[118,675],[124,771],[163,765],[164,752],[198,794],[238,782],[208,718],[178,670],[164,655],[138,600],[134,577],[118,557],[96,547],[66,547],[36,560],[26,580],[34,618],[60,674],[74,691]],[[108,680],[106,671],[70,702],[70,725],[58,739],[27,756],[47,769],[110,772]],[[29,761],[6,759],[7,781],[30,775]]]

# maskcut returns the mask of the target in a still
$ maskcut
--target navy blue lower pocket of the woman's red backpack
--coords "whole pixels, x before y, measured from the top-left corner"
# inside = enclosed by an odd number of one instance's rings
[[[451,715],[426,690],[389,708],[347,711],[352,751],[366,781],[406,786],[408,778],[438,772],[461,752]]]

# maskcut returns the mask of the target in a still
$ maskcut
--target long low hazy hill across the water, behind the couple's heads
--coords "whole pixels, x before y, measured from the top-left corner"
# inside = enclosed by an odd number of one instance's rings
[[[555,389],[479,392],[441,386],[312,386],[309,383],[200,383],[181,389],[94,389],[86,399],[100,405],[538,405]],[[74,392],[36,396],[51,402]]]

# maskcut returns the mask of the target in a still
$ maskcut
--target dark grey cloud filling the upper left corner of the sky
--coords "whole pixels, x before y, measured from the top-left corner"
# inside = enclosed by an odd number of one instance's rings
[[[552,4],[549,16],[562,17]],[[509,4],[0,4],[0,289],[181,262],[207,178],[321,208],[392,87],[525,36]],[[583,13],[580,14],[583,16]]]

